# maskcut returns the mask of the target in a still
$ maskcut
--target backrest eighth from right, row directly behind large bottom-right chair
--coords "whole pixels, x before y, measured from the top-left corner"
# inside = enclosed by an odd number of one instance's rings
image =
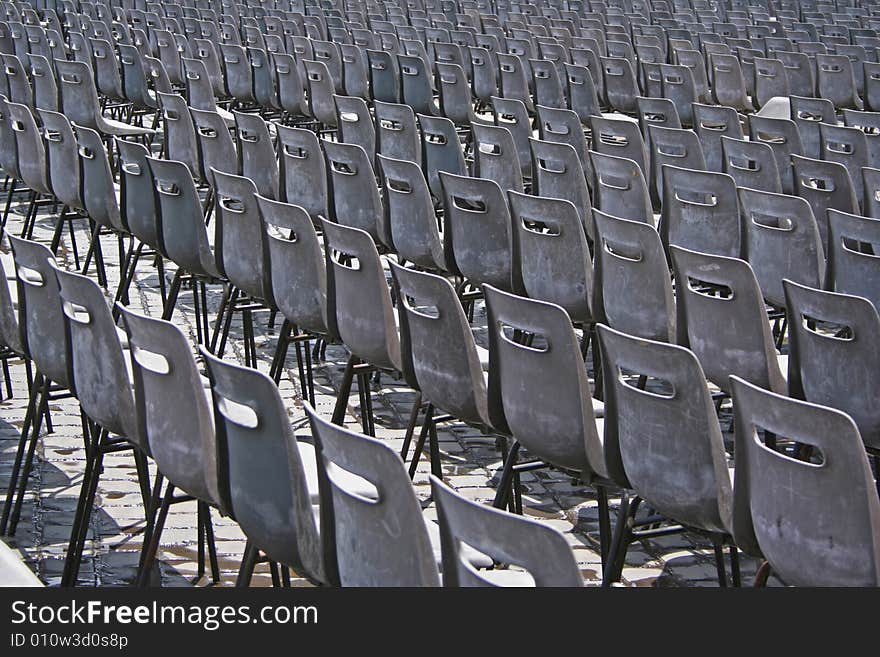
[[[319,216],[329,216],[327,165],[317,135],[279,123],[275,129],[282,200],[305,208],[314,222]]]

